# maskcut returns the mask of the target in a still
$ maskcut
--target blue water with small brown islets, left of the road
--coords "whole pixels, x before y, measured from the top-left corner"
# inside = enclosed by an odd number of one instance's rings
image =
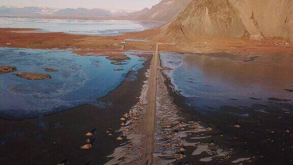
[[[27,118],[85,103],[100,105],[98,98],[117,88],[129,71],[143,67],[145,58],[126,54],[131,60],[125,60],[125,65],[112,65],[106,57],[78,56],[71,51],[0,48],[0,65],[15,66],[13,73],[39,72],[52,77],[28,80],[0,74],[0,117]],[[46,72],[46,67],[60,71]],[[123,70],[114,71],[116,68]]]

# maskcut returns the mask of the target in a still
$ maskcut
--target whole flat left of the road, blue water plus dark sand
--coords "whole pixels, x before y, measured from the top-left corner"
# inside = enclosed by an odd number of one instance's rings
[[[15,72],[38,71],[52,79],[1,74],[0,162],[107,162],[106,156],[123,143],[116,140],[119,118],[137,102],[150,59],[125,52],[130,59],[112,65],[105,56],[79,56],[70,50],[1,48],[1,54],[1,64],[14,65]],[[47,72],[46,67],[58,71]],[[80,149],[85,144],[92,147]]]

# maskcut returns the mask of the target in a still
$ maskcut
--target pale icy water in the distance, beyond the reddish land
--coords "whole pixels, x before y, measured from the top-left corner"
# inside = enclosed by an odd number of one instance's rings
[[[126,32],[143,31],[159,25],[154,22],[130,20],[0,18],[0,28],[36,28],[47,32],[87,35],[119,35]]]

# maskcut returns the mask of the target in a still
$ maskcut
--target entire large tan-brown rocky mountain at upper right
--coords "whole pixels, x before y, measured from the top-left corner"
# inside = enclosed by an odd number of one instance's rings
[[[173,41],[198,35],[293,39],[292,11],[289,0],[193,0],[158,37]]]

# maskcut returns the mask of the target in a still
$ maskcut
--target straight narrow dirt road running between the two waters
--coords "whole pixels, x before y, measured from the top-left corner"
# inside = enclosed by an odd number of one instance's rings
[[[156,92],[157,92],[157,70],[158,70],[158,43],[156,43],[155,55],[152,61],[152,74],[149,87],[149,105],[146,113],[145,137],[142,150],[141,164],[153,163],[153,146],[155,132],[155,109],[156,109]]]

